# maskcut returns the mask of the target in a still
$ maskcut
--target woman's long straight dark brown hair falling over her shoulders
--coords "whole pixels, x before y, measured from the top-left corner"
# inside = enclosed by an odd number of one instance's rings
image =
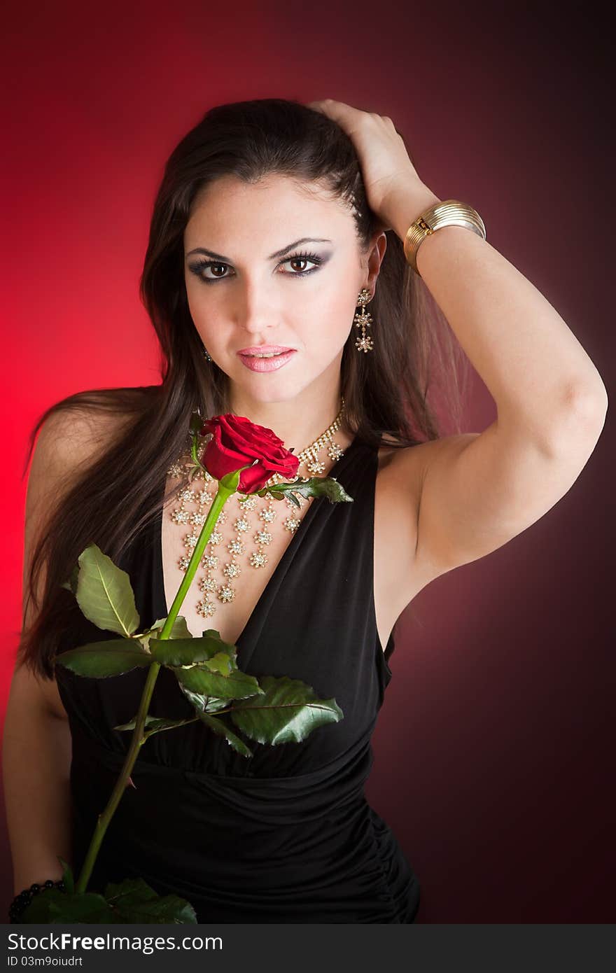
[[[23,476],[37,432],[51,414],[86,410],[123,418],[113,442],[56,503],[32,554],[27,596],[36,613],[21,632],[18,658],[41,676],[54,677],[59,635],[79,614],[73,595],[61,586],[81,552],[93,542],[112,559],[120,558],[161,509],[166,471],[186,445],[191,414],[229,411],[228,378],[203,357],[190,315],[183,234],[203,186],[222,175],[256,182],[269,173],[318,182],[333,198],[343,199],[364,252],[378,229],[350,138],[300,102],[265,98],[218,105],[182,138],[164,167],[139,288],[161,346],[162,383],[78,392],[42,414],[30,434]],[[383,437],[400,448],[438,438],[436,415],[428,404],[435,378],[446,379],[439,392],[459,429],[464,358],[393,231],[387,232],[370,311],[374,351],[357,351],[355,328],[344,345],[341,378],[348,430],[373,446]],[[44,564],[39,603],[35,593]]]

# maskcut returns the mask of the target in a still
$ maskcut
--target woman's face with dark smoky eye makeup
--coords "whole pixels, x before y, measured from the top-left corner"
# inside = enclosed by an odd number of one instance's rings
[[[376,277],[344,203],[287,176],[252,185],[224,176],[196,199],[184,253],[193,321],[232,387],[276,402],[316,379],[338,379],[357,296],[364,286],[372,293]],[[292,351],[272,358],[285,362],[276,368],[239,355],[262,345]]]

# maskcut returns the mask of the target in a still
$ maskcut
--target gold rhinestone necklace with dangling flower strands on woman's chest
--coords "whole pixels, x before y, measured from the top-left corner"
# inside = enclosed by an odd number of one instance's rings
[[[323,473],[325,470],[325,463],[321,462],[319,459],[319,452],[327,446],[327,455],[330,459],[337,461],[344,456],[344,452],[338,443],[334,442],[334,434],[340,429],[342,418],[344,415],[345,405],[344,397],[341,399],[341,409],[339,414],[336,416],[332,424],[322,433],[318,439],[315,439],[313,443],[310,443],[305,450],[297,453],[297,457],[300,461],[300,466],[298,467],[298,472],[294,477],[284,477],[279,473],[274,473],[270,480],[267,481],[265,486],[272,486],[276,483],[295,483],[296,480],[300,479],[302,474],[300,473],[300,468],[305,466],[308,474],[310,476],[318,476],[318,474]],[[201,458],[205,446],[199,449],[198,455]],[[189,450],[190,451],[190,450]],[[167,470],[167,475],[172,479],[184,480],[189,469],[188,465],[185,465],[182,460],[187,457],[187,454],[183,452],[178,459],[169,467]],[[197,484],[197,481],[202,480],[204,482],[203,486]],[[213,492],[210,492],[208,486],[214,484]],[[173,523],[178,524],[190,524],[192,530],[190,533],[184,536],[184,547],[187,549],[187,554],[183,555],[177,562],[177,566],[182,571],[186,571],[193,549],[199,540],[200,528],[205,523],[207,513],[205,508],[208,507],[214,497],[216,496],[217,481],[210,477],[209,473],[205,470],[198,470],[195,474],[192,485],[183,488],[178,488],[177,498],[179,500],[179,507],[175,507],[173,511],[169,514],[169,517]],[[300,507],[296,507],[292,500],[288,497],[284,497],[283,500],[276,500],[275,503],[280,507],[281,503],[285,503],[290,509],[290,513],[286,517],[283,527],[285,530],[289,531],[291,534],[295,534],[300,523],[302,523],[303,515],[300,516],[300,511],[302,508],[308,507],[309,498],[303,497],[296,494],[300,502]],[[217,529],[219,524],[226,523],[228,512],[223,509],[221,510],[216,523],[209,535],[209,541],[205,547],[203,557],[200,560],[200,566],[205,569],[205,576],[198,578],[198,587],[201,597],[196,605],[199,615],[203,618],[210,618],[216,608],[218,607],[217,602],[214,600],[214,595],[216,595],[218,601],[222,604],[227,604],[233,601],[236,596],[236,588],[234,583],[237,584],[236,579],[241,574],[241,567],[239,565],[238,559],[240,556],[246,553],[246,544],[243,540],[244,536],[247,536],[248,531],[251,529],[252,524],[249,515],[253,511],[258,510],[258,520],[261,522],[258,529],[252,535],[252,539],[255,543],[255,549],[250,552],[248,557],[248,564],[251,567],[259,568],[265,567],[268,563],[268,555],[266,553],[266,548],[272,543],[273,536],[270,532],[270,525],[278,516],[278,510],[274,509],[274,500],[272,497],[258,497],[255,494],[243,495],[235,493],[233,494],[227,503],[236,502],[236,512],[238,517],[234,522],[234,527],[236,531],[236,536],[232,538],[231,541],[226,545],[227,551],[229,552],[229,559],[225,561],[222,566],[222,578],[218,580],[214,576],[214,572],[219,567],[219,561],[225,560],[227,557],[225,554],[215,553],[215,549],[219,548],[222,544],[224,537]],[[261,502],[259,502],[261,501]],[[188,509],[187,505],[191,505],[192,509]],[[197,575],[196,575],[197,578]]]

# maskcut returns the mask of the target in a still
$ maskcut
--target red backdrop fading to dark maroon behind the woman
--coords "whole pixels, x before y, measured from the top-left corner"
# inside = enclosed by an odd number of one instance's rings
[[[160,380],[137,280],[163,162],[211,105],[333,97],[392,117],[423,181],[477,207],[610,389],[608,33],[533,6],[5,7],[2,716],[26,435],[79,389]],[[495,416],[473,378],[465,431]],[[610,419],[556,507],[398,626],[367,793],[418,873],[420,922],[615,918]],[[0,866],[8,906],[4,823]]]

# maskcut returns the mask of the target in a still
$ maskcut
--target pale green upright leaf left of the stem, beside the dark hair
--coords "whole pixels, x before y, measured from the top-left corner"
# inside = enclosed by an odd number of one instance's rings
[[[125,638],[139,628],[139,615],[126,571],[116,567],[96,544],[79,556],[77,601],[82,612],[104,631],[117,631]]]

